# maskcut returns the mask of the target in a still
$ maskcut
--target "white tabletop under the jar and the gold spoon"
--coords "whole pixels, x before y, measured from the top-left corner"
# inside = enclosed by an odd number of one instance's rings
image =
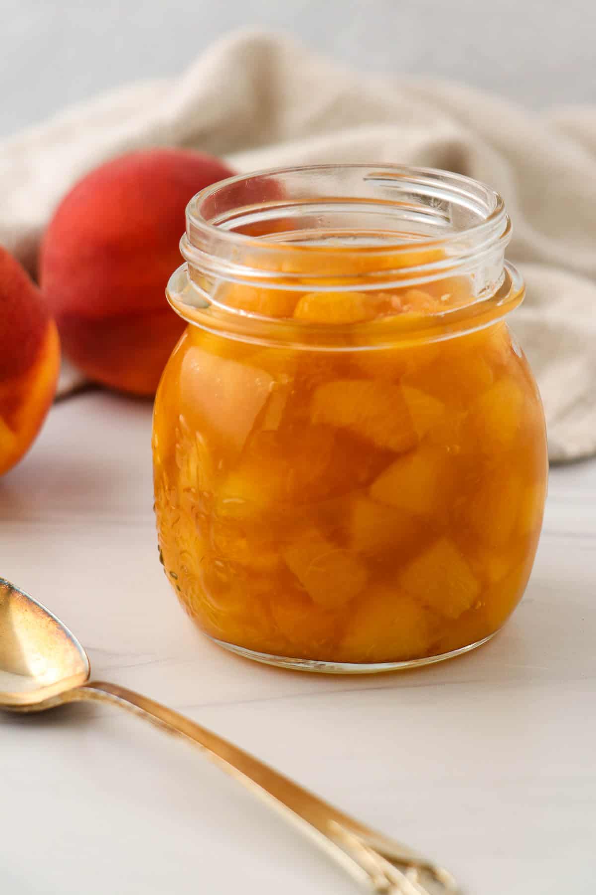
[[[593,895],[596,462],[551,473],[525,600],[430,669],[328,678],[222,652],[157,559],[146,403],[56,405],[0,480],[0,573],[138,689],[420,848],[469,895]],[[0,717],[2,895],[355,892],[182,742],[108,706]]]

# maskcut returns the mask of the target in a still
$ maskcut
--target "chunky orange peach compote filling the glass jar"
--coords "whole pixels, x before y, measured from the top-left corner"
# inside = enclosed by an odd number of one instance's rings
[[[190,322],[157,392],[160,557],[180,601],[268,661],[370,670],[479,644],[525,590],[547,479],[540,396],[502,314],[446,325],[474,304],[466,277],[277,286],[214,296],[270,320],[269,342]],[[281,320],[299,338],[276,340]]]

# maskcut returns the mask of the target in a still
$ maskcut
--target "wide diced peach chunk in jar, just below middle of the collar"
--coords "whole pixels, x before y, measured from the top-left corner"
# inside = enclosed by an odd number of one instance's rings
[[[311,404],[313,422],[326,422],[400,454],[418,441],[399,386],[369,379],[335,379],[319,386]]]

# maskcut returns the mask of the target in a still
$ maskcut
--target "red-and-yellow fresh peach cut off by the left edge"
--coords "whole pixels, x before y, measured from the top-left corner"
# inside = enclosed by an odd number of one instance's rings
[[[0,247],[0,475],[21,459],[55,395],[60,344],[37,286]]]

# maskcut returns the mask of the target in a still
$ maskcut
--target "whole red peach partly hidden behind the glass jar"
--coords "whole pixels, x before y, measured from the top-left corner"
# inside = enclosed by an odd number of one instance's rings
[[[65,354],[91,379],[155,392],[184,328],[164,289],[192,196],[233,172],[185,149],[115,158],[77,183],[42,243],[41,287]]]

